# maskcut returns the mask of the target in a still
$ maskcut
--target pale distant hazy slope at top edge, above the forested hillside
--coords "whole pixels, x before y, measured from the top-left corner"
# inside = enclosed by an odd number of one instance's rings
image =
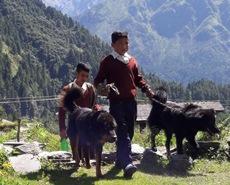
[[[63,14],[67,14],[70,17],[74,17],[83,13],[84,11],[91,9],[97,4],[104,2],[105,0],[42,0],[46,6],[51,6],[61,11]]]

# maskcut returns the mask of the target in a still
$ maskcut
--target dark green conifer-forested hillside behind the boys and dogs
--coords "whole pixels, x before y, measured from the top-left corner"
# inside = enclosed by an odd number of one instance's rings
[[[18,116],[53,115],[57,95],[73,80],[76,64],[91,64],[92,81],[99,61],[110,52],[108,44],[41,0],[0,0],[0,114],[3,106]],[[185,88],[141,73],[152,88],[165,86],[172,100],[229,103],[229,85],[200,80]],[[143,97],[138,91],[138,98]]]

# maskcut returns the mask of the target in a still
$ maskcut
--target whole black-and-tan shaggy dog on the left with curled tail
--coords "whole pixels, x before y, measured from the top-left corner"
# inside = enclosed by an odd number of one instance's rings
[[[74,140],[74,156],[77,165],[81,165],[78,146],[82,147],[82,158],[85,157],[86,167],[91,168],[90,147],[94,147],[96,155],[96,175],[102,177],[101,154],[106,142],[116,141],[115,119],[106,111],[92,111],[89,108],[81,108],[74,104],[74,100],[82,96],[79,88],[73,88],[63,92],[59,106],[71,113],[69,119],[68,136]]]

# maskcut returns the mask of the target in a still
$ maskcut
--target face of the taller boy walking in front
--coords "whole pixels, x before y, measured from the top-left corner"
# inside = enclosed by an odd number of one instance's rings
[[[129,39],[127,37],[121,37],[111,45],[114,51],[116,51],[119,55],[124,55],[129,50]]]

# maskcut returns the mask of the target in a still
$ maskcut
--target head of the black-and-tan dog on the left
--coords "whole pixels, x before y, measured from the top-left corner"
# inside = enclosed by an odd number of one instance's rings
[[[113,116],[106,111],[100,111],[100,114],[97,117],[99,142],[101,144],[104,144],[106,142],[115,142],[117,140],[116,128],[117,124]]]

